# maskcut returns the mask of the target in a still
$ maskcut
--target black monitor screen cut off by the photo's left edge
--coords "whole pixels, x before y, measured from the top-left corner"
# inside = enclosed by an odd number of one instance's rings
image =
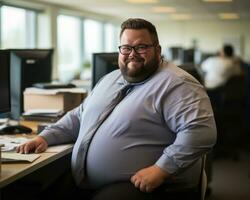
[[[7,54],[0,54],[0,114],[10,112],[10,68]]]

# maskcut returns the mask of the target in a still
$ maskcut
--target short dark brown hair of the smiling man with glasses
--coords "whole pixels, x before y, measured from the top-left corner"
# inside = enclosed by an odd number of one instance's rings
[[[125,29],[136,29],[136,30],[146,29],[150,33],[154,44],[159,44],[158,34],[155,26],[151,22],[146,21],[145,19],[129,18],[126,21],[124,21],[121,25],[120,38]]]

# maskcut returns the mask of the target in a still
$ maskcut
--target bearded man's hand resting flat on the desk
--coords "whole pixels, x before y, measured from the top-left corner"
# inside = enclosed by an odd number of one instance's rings
[[[48,144],[41,136],[37,136],[35,139],[28,141],[16,148],[17,153],[41,153],[48,148]]]

